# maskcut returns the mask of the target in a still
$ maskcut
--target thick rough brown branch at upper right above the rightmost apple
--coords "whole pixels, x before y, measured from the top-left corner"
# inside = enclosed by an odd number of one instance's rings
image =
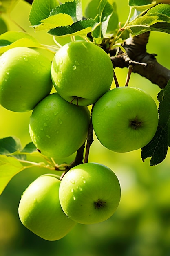
[[[150,32],[146,32],[139,36],[128,38],[123,45],[126,54],[120,50],[115,57],[114,49],[113,52],[110,51],[110,58],[114,68],[129,67],[130,64],[133,64],[132,72],[138,73],[160,88],[164,88],[170,79],[170,70],[157,62],[156,54],[146,52],[149,35]]]

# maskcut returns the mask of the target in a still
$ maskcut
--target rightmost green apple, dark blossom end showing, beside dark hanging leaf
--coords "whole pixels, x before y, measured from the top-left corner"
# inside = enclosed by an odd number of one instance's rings
[[[92,124],[98,140],[106,148],[129,152],[144,147],[153,138],[158,126],[158,110],[144,90],[114,88],[95,104]]]

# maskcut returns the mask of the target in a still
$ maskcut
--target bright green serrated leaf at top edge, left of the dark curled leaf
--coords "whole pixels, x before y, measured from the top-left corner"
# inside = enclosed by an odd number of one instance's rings
[[[38,25],[41,20],[48,18],[57,5],[59,5],[58,0],[34,0],[29,14],[31,25]]]

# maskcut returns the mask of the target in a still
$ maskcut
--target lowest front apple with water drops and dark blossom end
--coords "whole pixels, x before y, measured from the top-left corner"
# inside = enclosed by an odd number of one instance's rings
[[[59,200],[66,215],[81,224],[99,223],[116,211],[119,180],[110,168],[85,163],[69,170],[60,183]]]

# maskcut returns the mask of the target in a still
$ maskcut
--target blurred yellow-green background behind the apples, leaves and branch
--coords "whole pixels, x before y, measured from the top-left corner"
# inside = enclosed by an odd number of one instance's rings
[[[64,2],[64,1],[62,1]],[[127,0],[116,0],[119,21],[128,17]],[[82,1],[85,8],[88,0]],[[23,27],[44,44],[53,44],[51,36],[35,33],[28,16],[30,5],[19,0],[9,17],[3,15],[9,30]],[[64,43],[61,42],[60,43]],[[170,69],[170,35],[152,32],[147,51]],[[47,54],[44,51],[44,54]],[[52,54],[48,54],[52,58]],[[115,69],[124,85],[127,69]],[[157,103],[159,88],[138,74],[132,74],[130,86],[149,92]],[[12,93],[12,92],[11,92]],[[15,113],[0,106],[0,138],[19,137],[22,146],[31,141],[31,112]],[[114,153],[104,148],[94,136],[89,162],[113,169],[121,184],[121,202],[116,213],[96,225],[80,225],[59,241],[49,242],[31,233],[18,218],[18,204],[25,188],[43,169],[29,169],[16,175],[0,196],[0,256],[170,256],[170,153],[158,166],[149,159],[141,161],[141,152]],[[71,162],[74,155],[58,162]]]

